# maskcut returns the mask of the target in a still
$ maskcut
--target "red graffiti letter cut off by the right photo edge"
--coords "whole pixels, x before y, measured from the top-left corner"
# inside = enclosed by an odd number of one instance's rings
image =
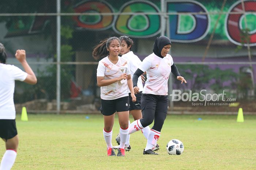
[[[244,9],[245,11],[250,11],[250,12],[255,12],[256,11],[256,1],[244,1]],[[242,3],[241,1],[238,1],[236,4],[232,5],[229,9],[229,12],[243,12],[244,10],[242,9]],[[231,42],[233,42],[236,45],[244,45],[247,46],[246,42],[242,42],[241,38],[241,31],[243,31],[246,26],[245,26],[245,20],[250,19],[254,20],[254,23],[252,25],[247,25],[247,28],[249,29],[249,44],[250,46],[256,46],[256,15],[252,14],[229,14],[226,17],[226,26],[225,29],[227,31],[227,37]]]

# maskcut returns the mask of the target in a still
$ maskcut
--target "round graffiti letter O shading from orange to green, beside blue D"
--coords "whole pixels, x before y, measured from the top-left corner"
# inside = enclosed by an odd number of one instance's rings
[[[124,12],[159,12],[157,6],[149,1],[130,1],[124,4],[120,13]],[[160,30],[159,15],[119,15],[114,22],[114,30],[130,37],[152,37]]]

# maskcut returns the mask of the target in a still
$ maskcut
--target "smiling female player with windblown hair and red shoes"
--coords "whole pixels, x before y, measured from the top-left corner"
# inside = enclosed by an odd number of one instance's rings
[[[129,63],[118,56],[120,40],[110,37],[101,41],[93,50],[95,60],[99,61],[97,68],[97,84],[101,87],[101,113],[104,117],[103,136],[108,150],[108,156],[116,156],[111,143],[114,113],[117,112],[120,124],[120,146],[117,156],[124,156],[124,146],[129,133],[129,90],[132,101],[136,101],[133,91]]]

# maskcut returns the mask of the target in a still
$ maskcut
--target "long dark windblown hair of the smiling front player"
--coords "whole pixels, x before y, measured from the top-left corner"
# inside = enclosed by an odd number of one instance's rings
[[[108,49],[109,49],[110,43],[114,39],[117,39],[118,42],[121,45],[121,42],[117,37],[106,38],[106,39],[102,40],[101,42],[99,42],[99,44],[94,47],[94,49],[93,49],[93,58],[95,60],[99,60],[99,58],[108,56],[109,55]]]

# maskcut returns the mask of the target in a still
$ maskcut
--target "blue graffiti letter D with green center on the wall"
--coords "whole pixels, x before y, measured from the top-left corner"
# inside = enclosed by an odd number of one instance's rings
[[[196,1],[167,1],[167,12],[207,12]],[[170,38],[174,42],[196,42],[203,39],[209,29],[210,17],[205,14],[169,15]]]

